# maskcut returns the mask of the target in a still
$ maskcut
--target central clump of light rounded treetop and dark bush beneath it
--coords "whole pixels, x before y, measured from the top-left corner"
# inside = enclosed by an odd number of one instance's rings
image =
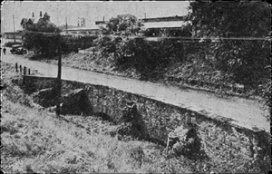
[[[141,23],[137,22],[135,16],[112,18],[102,30],[106,34],[114,35],[98,40],[101,53],[112,54],[120,70],[135,69],[141,73],[141,78],[160,76],[159,74],[170,64],[172,57],[183,59],[182,49],[177,41],[161,39],[158,42],[149,42],[141,38],[128,37],[139,35],[141,32]]]

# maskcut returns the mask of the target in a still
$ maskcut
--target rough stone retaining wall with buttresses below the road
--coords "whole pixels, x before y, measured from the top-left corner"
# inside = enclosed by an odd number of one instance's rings
[[[25,86],[35,89],[52,87],[54,79],[24,76]],[[87,90],[94,111],[104,112],[119,121],[127,101],[137,104],[146,133],[154,140],[166,144],[168,134],[180,125],[193,122],[198,125],[199,138],[205,153],[214,160],[226,160],[235,164],[238,159],[255,162],[266,168],[270,158],[269,134],[230,124],[219,116],[210,116],[148,99],[144,96],[123,92],[102,85],[63,81],[63,92],[84,88]],[[250,163],[250,162],[249,162]],[[254,163],[254,164],[255,164]],[[243,166],[243,164],[241,164]]]

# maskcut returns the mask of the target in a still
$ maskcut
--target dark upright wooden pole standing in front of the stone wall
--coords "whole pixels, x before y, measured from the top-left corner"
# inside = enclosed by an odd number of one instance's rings
[[[62,97],[62,48],[58,46],[58,74],[56,78],[56,92],[57,92],[57,103],[55,113],[57,116],[61,114],[61,97]]]

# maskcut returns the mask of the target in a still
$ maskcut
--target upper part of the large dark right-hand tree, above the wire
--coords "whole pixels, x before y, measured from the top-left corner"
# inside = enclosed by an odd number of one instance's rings
[[[199,36],[262,37],[269,32],[267,3],[192,2],[189,9],[189,20],[200,30]]]

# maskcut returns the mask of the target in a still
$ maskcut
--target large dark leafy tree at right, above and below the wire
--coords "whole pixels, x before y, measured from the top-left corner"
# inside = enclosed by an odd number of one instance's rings
[[[197,3],[189,6],[188,20],[196,36],[258,37],[270,31],[267,3]],[[214,70],[228,73],[228,80],[257,88],[267,82],[270,42],[267,40],[219,40],[201,43]],[[208,56],[209,55],[209,56]],[[210,56],[211,55],[211,56]],[[208,60],[211,59],[211,60]]]

